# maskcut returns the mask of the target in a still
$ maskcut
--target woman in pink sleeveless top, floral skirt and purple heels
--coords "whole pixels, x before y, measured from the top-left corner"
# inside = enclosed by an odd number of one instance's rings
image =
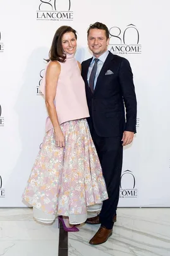
[[[49,114],[46,135],[23,193],[35,219],[50,223],[57,215],[66,231],[78,231],[70,224],[85,222],[87,207],[96,210],[95,204],[108,198],[86,120],[81,64],[74,58],[76,39],[68,26],[54,35],[40,85]]]

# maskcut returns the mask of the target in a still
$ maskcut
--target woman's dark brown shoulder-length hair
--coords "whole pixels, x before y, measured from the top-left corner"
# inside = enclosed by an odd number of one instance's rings
[[[75,34],[75,38],[77,39],[76,30],[69,26],[61,26],[56,31],[54,38],[52,40],[51,49],[49,51],[49,59],[45,59],[47,62],[49,61],[59,61],[64,62],[66,59],[66,54],[63,53],[63,47],[61,44],[62,37],[67,32],[73,32]]]

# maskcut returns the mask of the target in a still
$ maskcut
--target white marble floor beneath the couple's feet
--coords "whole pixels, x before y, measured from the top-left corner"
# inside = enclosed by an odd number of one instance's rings
[[[99,225],[85,224],[68,234],[68,256],[170,256],[170,209],[118,209],[109,240],[91,246]],[[0,209],[0,255],[57,256],[58,221],[51,226],[32,219],[32,209]]]

